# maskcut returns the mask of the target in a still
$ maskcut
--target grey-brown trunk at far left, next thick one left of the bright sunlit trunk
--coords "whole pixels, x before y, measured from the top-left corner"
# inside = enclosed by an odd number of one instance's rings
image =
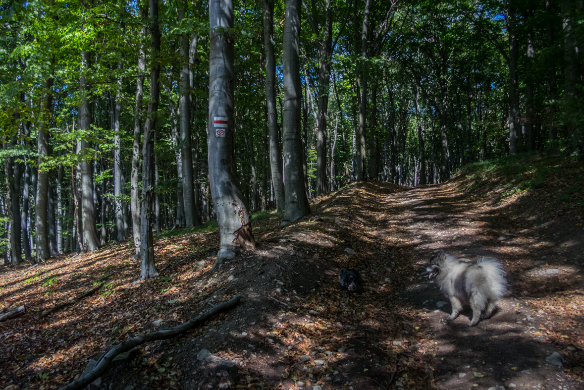
[[[51,65],[54,60],[51,59]],[[36,262],[40,263],[50,257],[50,248],[48,246],[48,170],[43,168],[43,163],[48,157],[48,122],[51,110],[53,109],[53,78],[49,78],[45,83],[45,92],[43,93],[43,106],[41,120],[39,123],[39,132],[37,135],[37,154],[39,156],[39,165],[37,173],[37,186],[34,208],[34,228],[36,230]]]

